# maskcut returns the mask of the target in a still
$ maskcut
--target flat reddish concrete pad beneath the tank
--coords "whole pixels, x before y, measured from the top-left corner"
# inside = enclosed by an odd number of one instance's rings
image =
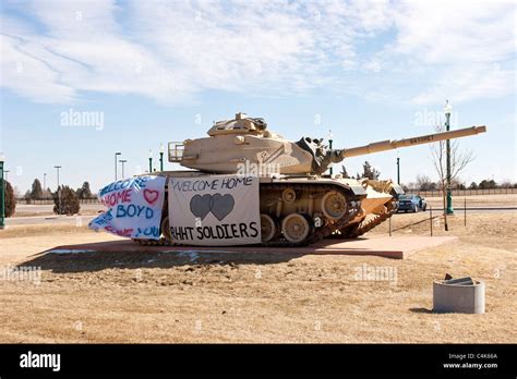
[[[410,254],[456,241],[455,236],[380,236],[357,240],[324,240],[305,247],[202,247],[202,246],[141,246],[130,240],[56,246],[45,253],[294,253],[294,254],[341,254],[370,255],[393,259],[404,259]]]

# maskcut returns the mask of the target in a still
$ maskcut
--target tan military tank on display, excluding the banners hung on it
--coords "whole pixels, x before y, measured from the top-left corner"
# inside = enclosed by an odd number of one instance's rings
[[[397,195],[404,193],[390,180],[354,180],[326,174],[332,163],[485,131],[485,126],[472,126],[329,149],[323,138],[302,137],[291,142],[269,131],[263,119],[237,113],[232,120],[215,122],[207,132],[208,137],[169,143],[169,162],[191,170],[156,174],[169,178],[257,175],[262,245],[301,246],[325,237],[349,239],[366,233],[396,211]],[[135,241],[140,244],[176,244],[169,230],[167,204],[163,211],[161,239]]]

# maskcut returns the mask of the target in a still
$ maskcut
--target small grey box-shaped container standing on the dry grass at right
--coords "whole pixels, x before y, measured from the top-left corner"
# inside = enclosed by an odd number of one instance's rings
[[[437,313],[484,314],[484,283],[470,277],[435,281],[433,310]]]

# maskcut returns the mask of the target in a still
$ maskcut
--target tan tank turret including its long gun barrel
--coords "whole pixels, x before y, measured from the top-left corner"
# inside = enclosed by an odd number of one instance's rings
[[[450,132],[428,134],[399,140],[382,140],[364,146],[328,149],[323,138],[285,139],[267,130],[263,119],[237,113],[233,120],[216,122],[208,137],[169,143],[169,161],[204,172],[322,174],[330,163],[348,157],[432,144],[486,132],[485,126],[472,126]]]

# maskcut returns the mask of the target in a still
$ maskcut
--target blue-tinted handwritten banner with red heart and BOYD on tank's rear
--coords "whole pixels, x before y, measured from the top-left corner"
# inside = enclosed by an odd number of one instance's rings
[[[88,224],[131,239],[159,240],[161,208],[165,198],[163,176],[137,176],[113,182],[98,194],[108,210]]]

